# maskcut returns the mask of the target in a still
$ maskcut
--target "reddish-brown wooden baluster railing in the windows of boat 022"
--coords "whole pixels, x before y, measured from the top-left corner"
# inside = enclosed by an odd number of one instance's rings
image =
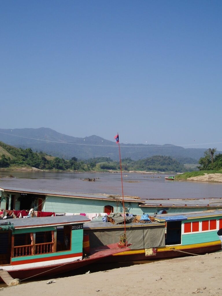
[[[53,252],[54,242],[14,247],[14,257],[41,255]]]

